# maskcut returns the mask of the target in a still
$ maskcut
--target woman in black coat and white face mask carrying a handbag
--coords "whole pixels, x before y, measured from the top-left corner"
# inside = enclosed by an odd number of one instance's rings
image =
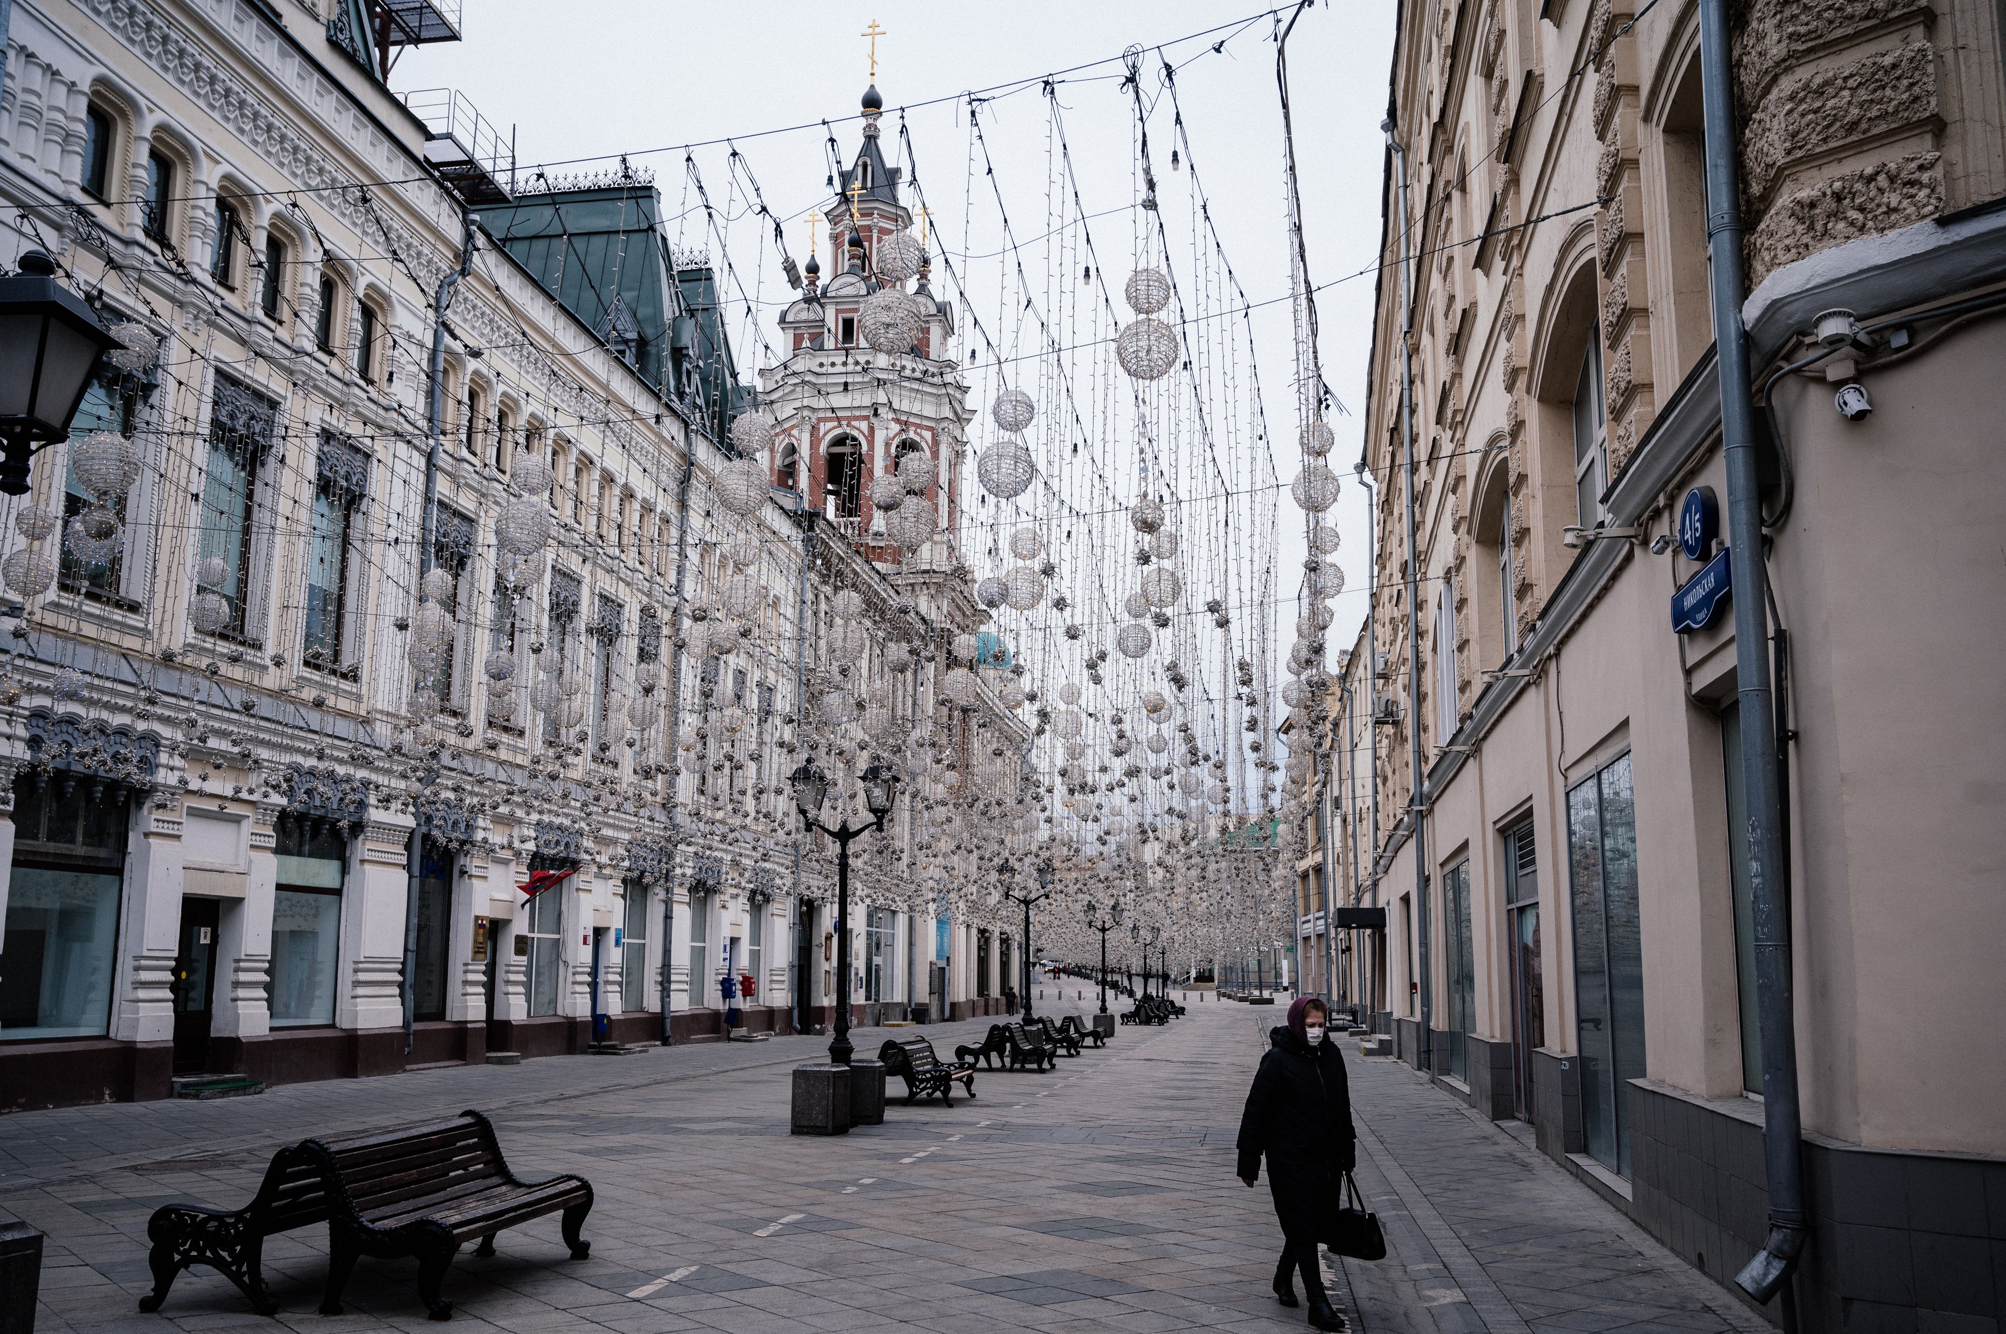
[[[1282,1306],[1296,1306],[1292,1272],[1302,1270],[1310,1326],[1342,1330],[1344,1316],[1324,1292],[1316,1242],[1338,1208],[1344,1174],[1358,1161],[1358,1135],[1344,1055],[1324,1037],[1328,1019],[1322,1001],[1298,997],[1288,1007],[1288,1023],[1268,1035],[1268,1053],[1240,1117],[1240,1180],[1254,1186],[1260,1159],[1268,1155],[1268,1190],[1284,1238],[1274,1296]]]

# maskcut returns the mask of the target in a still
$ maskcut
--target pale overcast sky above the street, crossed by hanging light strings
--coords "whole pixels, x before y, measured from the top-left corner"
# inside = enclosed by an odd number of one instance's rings
[[[1276,439],[1276,467],[1286,483],[1296,471],[1296,405],[1292,401],[1294,351],[1288,307],[1288,231],[1284,219],[1282,118],[1276,94],[1276,22],[1260,18],[1258,0],[1228,4],[1214,0],[1019,0],[1015,4],[911,4],[873,0],[871,4],[668,4],[662,0],[467,0],[465,40],[409,50],[391,84],[397,90],[451,86],[467,94],[489,120],[514,122],[518,162],[568,162],[628,152],[636,164],[656,171],[668,215],[694,201],[688,189],[680,144],[732,138],[744,164],[758,181],[766,205],[788,219],[788,249],[806,255],[806,221],[812,207],[826,201],[828,118],[845,160],[859,142],[855,116],[869,82],[863,28],[877,20],[887,36],[879,40],[877,84],[887,104],[887,146],[895,144],[897,112],[905,120],[919,160],[921,185],[935,209],[939,245],[961,249],[967,235],[971,255],[997,251],[1001,235],[995,195],[981,169],[969,173],[971,134],[967,104],[951,100],[963,90],[981,90],[1037,78],[1089,62],[1117,58],[1141,44],[1143,86],[1151,98],[1151,156],[1165,179],[1165,201],[1188,201],[1182,177],[1165,175],[1169,152],[1167,102],[1159,96],[1163,58],[1180,66],[1182,106],[1192,156],[1198,160],[1210,215],[1220,231],[1226,257],[1260,307],[1252,317],[1252,337],[1260,361],[1268,417]],[[1372,319],[1372,267],[1380,245],[1380,118],[1386,106],[1386,72],[1392,48],[1394,6],[1390,0],[1352,0],[1342,6],[1318,4],[1296,24],[1290,38],[1296,154],[1302,173],[1302,205],[1312,281],[1348,281],[1320,293],[1324,379],[1354,413],[1364,399],[1364,367]],[[1202,40],[1176,38],[1214,32]],[[1224,52],[1212,42],[1228,38]],[[1161,46],[1161,56],[1155,48]],[[1121,64],[1097,64],[1063,76],[1057,88],[1081,203],[1091,219],[1093,241],[1119,293],[1131,267],[1133,201],[1133,102],[1121,88]],[[937,98],[949,98],[935,102]],[[917,106],[919,102],[935,102]],[[796,132],[762,134],[810,124]],[[1001,96],[983,108],[983,136],[995,164],[995,189],[1023,245],[1033,295],[1049,285],[1045,265],[1053,265],[1049,245],[1033,239],[1047,227],[1049,104],[1041,86]],[[732,199],[728,148],[694,150],[698,171],[714,205]],[[574,162],[562,171],[588,171],[612,162]],[[552,175],[560,169],[552,166]],[[738,187],[742,191],[742,187]],[[963,199],[971,201],[963,219]],[[1063,209],[1063,201],[1061,201]],[[1186,203],[1165,205],[1165,223],[1182,239],[1188,233]],[[702,215],[670,223],[670,235],[686,229],[682,241],[716,249]],[[963,231],[967,227],[967,231]],[[1180,231],[1182,229],[1182,231]],[[770,227],[762,247],[762,227],[740,217],[726,239],[746,293],[762,303],[764,335],[776,335],[770,303],[786,297]],[[826,231],[824,231],[826,235]],[[1005,263],[1017,257],[969,259],[963,263],[973,289],[987,279],[993,293]],[[1180,285],[1190,285],[1190,251],[1174,249],[1172,265]],[[1121,273],[1115,273],[1115,269]],[[1364,271],[1364,273],[1360,273]],[[935,277],[935,293],[947,283]],[[993,309],[993,307],[991,307]],[[983,315],[981,301],[977,313]],[[1127,311],[1121,311],[1127,317]],[[987,321],[987,315],[985,315]],[[991,321],[993,323],[993,321]],[[1003,331],[999,331],[1001,337]],[[734,335],[738,363],[750,379],[764,357],[750,333]],[[1035,351],[1019,333],[1005,351]],[[985,351],[985,349],[981,349]],[[965,355],[965,353],[963,353]],[[973,379],[973,377],[971,377]],[[975,383],[973,393],[983,393]],[[981,405],[981,403],[977,403]],[[1350,644],[1364,612],[1366,528],[1360,489],[1350,465],[1358,457],[1360,419],[1332,417],[1338,447],[1332,465],[1344,477],[1344,495],[1334,512],[1344,536],[1338,552],[1350,588],[1336,600],[1332,654]],[[1286,449],[1282,447],[1286,445]],[[1282,560],[1300,562],[1300,514],[1284,502]],[[1288,568],[1284,564],[1284,568]],[[1296,566],[1300,570],[1300,566]],[[1296,578],[1288,578],[1294,594]],[[1278,654],[1286,652],[1294,608],[1278,620]]]

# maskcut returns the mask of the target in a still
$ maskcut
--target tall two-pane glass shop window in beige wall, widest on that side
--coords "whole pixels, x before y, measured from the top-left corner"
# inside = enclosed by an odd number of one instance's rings
[[[1643,1079],[1643,935],[1637,806],[1625,754],[1567,792],[1575,917],[1581,1131],[1589,1153],[1629,1176],[1629,1081]]]

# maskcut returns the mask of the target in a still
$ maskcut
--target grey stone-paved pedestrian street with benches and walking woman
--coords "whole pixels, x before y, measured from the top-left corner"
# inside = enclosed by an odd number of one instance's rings
[[[566,1260],[546,1218],[504,1232],[489,1260],[461,1252],[445,1282],[455,1328],[1304,1328],[1268,1292],[1280,1250],[1268,1192],[1232,1176],[1240,1103],[1278,1011],[1190,999],[1165,1029],[1123,1027],[1043,1075],[977,1075],[977,1099],[951,1109],[895,1099],[885,1125],[837,1139],[788,1135],[786,1069],[820,1039],[16,1113],[0,1117],[0,1216],[48,1234],[44,1334],[271,1328],[207,1270],[183,1274],[160,1314],[138,1314],[146,1216],[166,1202],[243,1206],[287,1139],[481,1107],[518,1170],[592,1180],[594,1246]],[[923,1031],[947,1049],[983,1023]],[[857,1039],[869,1053],[883,1033]],[[1326,1266],[1364,1330],[1765,1328],[1511,1133],[1404,1065],[1348,1059],[1360,1180],[1392,1254]],[[363,1260],[349,1314],[313,1314],[325,1248],[315,1230],[267,1244],[283,1324],[419,1328],[409,1260]]]

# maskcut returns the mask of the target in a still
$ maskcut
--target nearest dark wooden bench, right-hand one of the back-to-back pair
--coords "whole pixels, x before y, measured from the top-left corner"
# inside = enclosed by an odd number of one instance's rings
[[[580,1176],[524,1182],[510,1172],[493,1125],[479,1111],[401,1129],[307,1139],[327,1182],[327,1294],[323,1316],[341,1314],[341,1290],[361,1256],[417,1258],[417,1296],[433,1320],[453,1304],[439,1282],[459,1248],[479,1238],[475,1256],[495,1254],[495,1234],[558,1214],[572,1260],[592,1254],[578,1230],[592,1212],[592,1184]]]

